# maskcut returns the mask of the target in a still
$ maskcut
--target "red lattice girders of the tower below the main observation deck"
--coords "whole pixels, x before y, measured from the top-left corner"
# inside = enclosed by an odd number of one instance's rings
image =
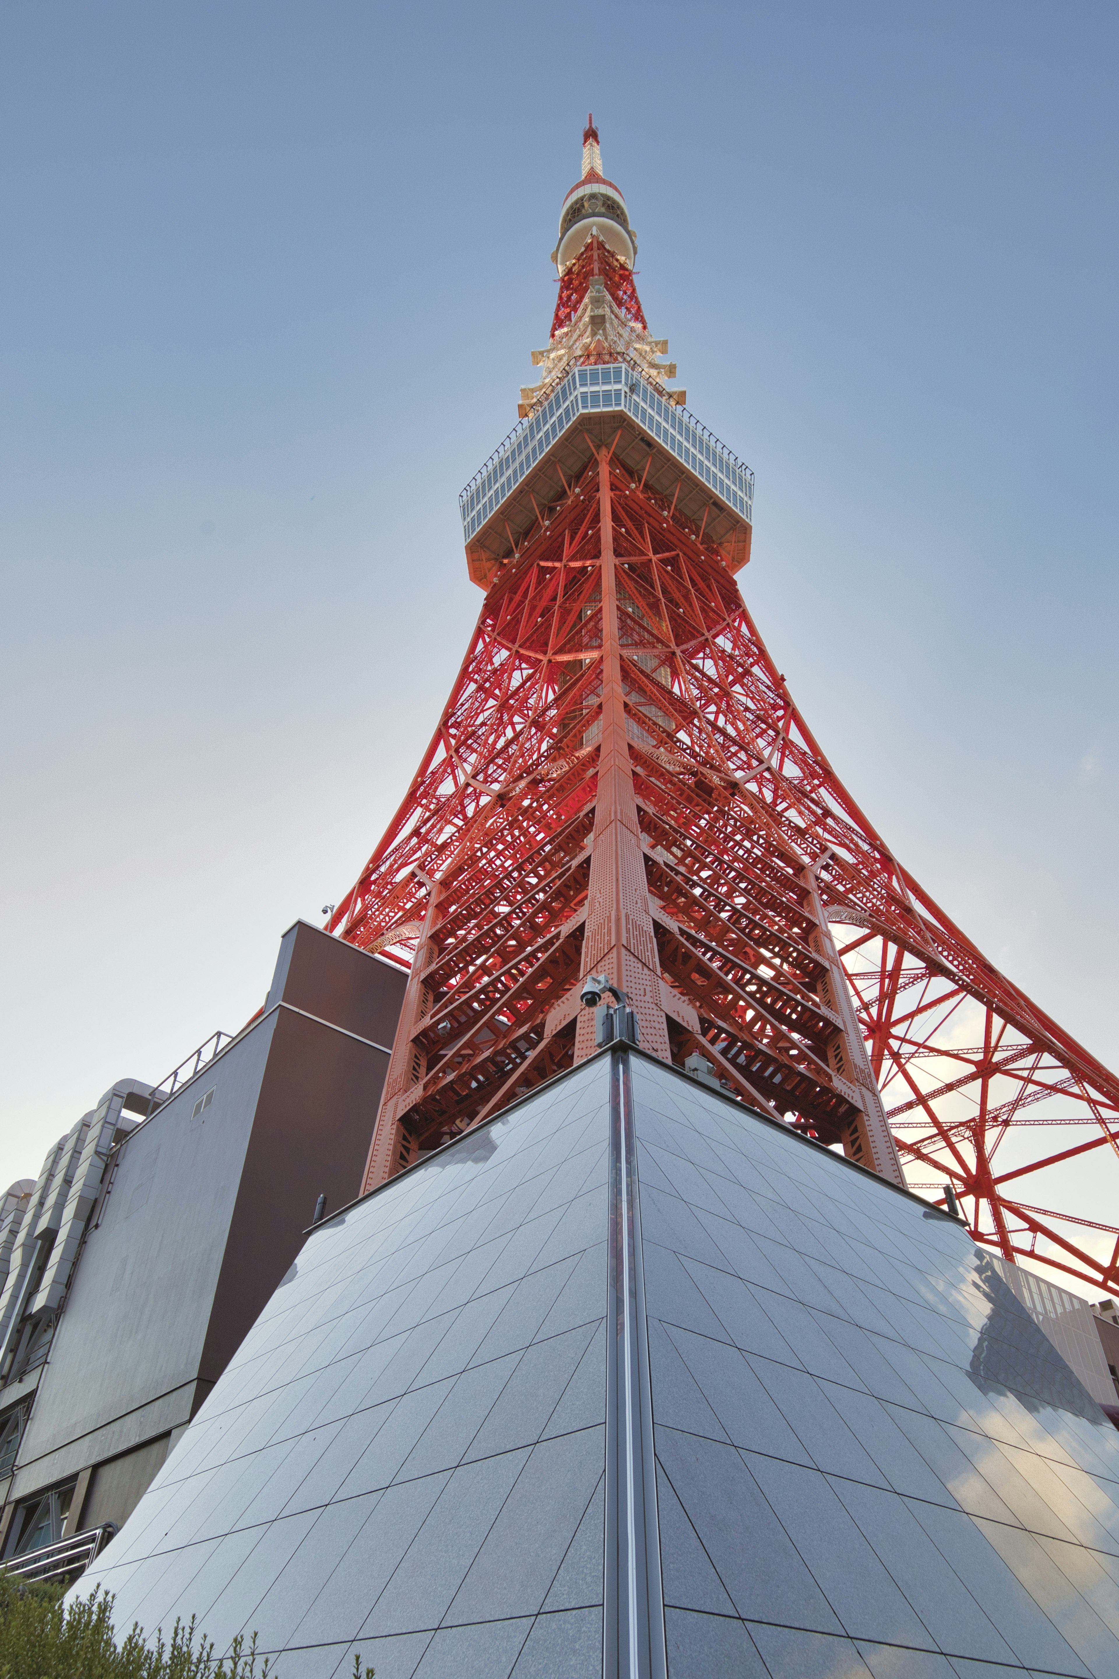
[[[644,960],[668,987],[659,1053],[700,1049],[733,1093],[862,1159],[854,1036],[903,1160],[953,1182],[978,1241],[1116,1289],[1117,1229],[1007,1190],[1090,1150],[1114,1170],[1119,1081],[898,863],[720,554],[607,453],[498,569],[413,784],[330,923],[411,955],[379,1170],[582,1053],[604,799],[621,799],[639,829]],[[851,927],[851,1026],[827,922]],[[1028,1150],[1070,1103],[1097,1135]],[[1072,1222],[1092,1234],[1070,1241]]]

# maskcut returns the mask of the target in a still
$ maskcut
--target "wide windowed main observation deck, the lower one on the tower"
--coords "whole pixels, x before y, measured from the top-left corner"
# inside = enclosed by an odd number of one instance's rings
[[[616,438],[619,428],[629,437]],[[540,507],[565,494],[570,477],[591,458],[589,432],[612,438],[617,458],[673,499],[731,571],[745,566],[753,472],[636,366],[612,361],[572,366],[547,403],[513,426],[458,497],[475,583],[488,588],[497,566],[540,517]],[[651,442],[659,445],[653,458]]]

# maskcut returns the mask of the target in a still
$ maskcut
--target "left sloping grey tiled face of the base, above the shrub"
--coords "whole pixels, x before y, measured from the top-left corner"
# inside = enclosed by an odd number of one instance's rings
[[[84,1580],[302,1676],[591,1674],[602,1645],[606,1068],[315,1232]]]

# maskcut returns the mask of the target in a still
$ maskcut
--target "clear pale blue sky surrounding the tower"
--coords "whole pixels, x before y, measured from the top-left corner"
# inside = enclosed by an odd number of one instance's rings
[[[3,10],[3,1184],[396,808],[589,109],[778,668],[1119,1063],[1117,60],[1112,0]]]

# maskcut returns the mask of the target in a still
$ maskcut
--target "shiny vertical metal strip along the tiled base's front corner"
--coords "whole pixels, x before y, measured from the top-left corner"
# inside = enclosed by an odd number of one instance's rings
[[[666,1679],[629,1053],[611,1054],[604,1679]]]

